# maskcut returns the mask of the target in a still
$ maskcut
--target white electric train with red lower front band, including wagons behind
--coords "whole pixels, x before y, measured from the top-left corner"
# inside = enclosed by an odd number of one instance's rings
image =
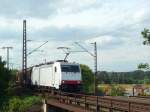
[[[26,77],[19,73],[21,81],[31,87],[53,88],[62,91],[81,91],[81,69],[77,63],[55,61],[33,66],[27,70]],[[25,78],[25,79],[24,79]]]

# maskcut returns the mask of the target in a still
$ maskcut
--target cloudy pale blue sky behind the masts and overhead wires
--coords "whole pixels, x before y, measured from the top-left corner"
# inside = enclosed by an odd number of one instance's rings
[[[141,31],[150,28],[149,0],[0,0],[0,48],[12,46],[10,66],[21,69],[22,25],[27,21],[28,67],[65,57],[58,47],[93,53],[97,42],[98,70],[133,71],[150,62],[150,47],[142,45]],[[6,60],[6,50],[0,49]],[[71,53],[71,62],[94,68],[86,52]]]

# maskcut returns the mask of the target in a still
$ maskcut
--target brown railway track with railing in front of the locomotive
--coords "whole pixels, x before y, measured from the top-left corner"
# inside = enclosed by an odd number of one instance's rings
[[[47,102],[55,99],[62,104],[78,106],[93,112],[150,112],[149,97],[94,96],[61,91],[51,94],[47,90],[38,92],[45,96]]]

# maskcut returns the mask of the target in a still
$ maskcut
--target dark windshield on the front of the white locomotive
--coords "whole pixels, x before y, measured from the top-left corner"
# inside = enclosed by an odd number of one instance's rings
[[[78,65],[61,65],[62,72],[80,72]]]

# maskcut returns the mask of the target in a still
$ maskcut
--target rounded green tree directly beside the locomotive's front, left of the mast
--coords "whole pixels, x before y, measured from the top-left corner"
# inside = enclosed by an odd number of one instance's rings
[[[83,91],[93,92],[94,89],[94,74],[92,70],[87,65],[80,65],[83,81]]]

